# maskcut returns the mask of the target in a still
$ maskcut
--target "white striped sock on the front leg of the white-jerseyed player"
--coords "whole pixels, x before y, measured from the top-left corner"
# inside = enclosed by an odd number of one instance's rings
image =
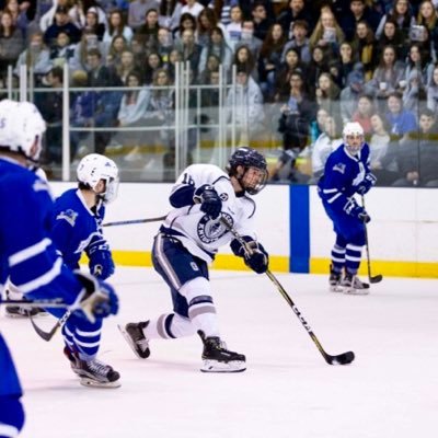
[[[210,283],[204,277],[197,277],[186,283],[180,293],[188,302],[188,318],[193,325],[201,330],[207,337],[219,336],[218,318],[212,302]]]

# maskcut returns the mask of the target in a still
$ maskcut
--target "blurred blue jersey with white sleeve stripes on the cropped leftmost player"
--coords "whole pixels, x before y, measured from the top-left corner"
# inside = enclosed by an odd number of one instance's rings
[[[8,277],[30,299],[72,303],[81,284],[56,253],[49,237],[54,208],[47,183],[13,160],[0,158],[0,298]],[[0,395],[20,394],[0,338]]]

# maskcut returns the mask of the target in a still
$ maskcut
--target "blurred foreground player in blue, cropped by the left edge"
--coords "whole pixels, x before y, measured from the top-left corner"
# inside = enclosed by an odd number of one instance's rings
[[[115,314],[117,296],[110,285],[73,273],[57,255],[48,232],[53,200],[47,184],[31,168],[41,150],[45,123],[27,102],[0,102],[0,293],[8,277],[31,300],[61,299],[67,304],[93,302],[94,316]],[[95,299],[99,298],[99,299]],[[65,310],[50,311],[61,316]],[[78,309],[72,315],[85,319]],[[91,364],[77,360],[74,372]],[[23,427],[22,389],[0,334],[0,437],[16,437]]]

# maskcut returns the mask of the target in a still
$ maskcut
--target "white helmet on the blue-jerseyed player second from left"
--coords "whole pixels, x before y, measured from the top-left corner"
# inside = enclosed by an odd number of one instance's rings
[[[99,153],[85,155],[78,164],[78,181],[95,191],[99,182],[104,180],[106,188],[99,195],[105,203],[112,203],[117,197],[118,169],[116,163]]]

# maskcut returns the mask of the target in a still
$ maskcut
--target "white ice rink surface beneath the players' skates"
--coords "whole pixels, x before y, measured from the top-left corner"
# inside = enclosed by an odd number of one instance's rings
[[[119,389],[89,389],[69,368],[58,334],[0,319],[25,389],[23,438],[435,438],[438,422],[438,281],[384,278],[367,297],[331,293],[325,276],[276,275],[330,354],[326,365],[270,280],[212,272],[222,337],[247,370],[206,374],[196,337],[155,341],[134,356],[117,323],[170,310],[152,269],[118,268],[120,312],[106,320],[100,358]],[[39,318],[44,327],[51,316]]]

